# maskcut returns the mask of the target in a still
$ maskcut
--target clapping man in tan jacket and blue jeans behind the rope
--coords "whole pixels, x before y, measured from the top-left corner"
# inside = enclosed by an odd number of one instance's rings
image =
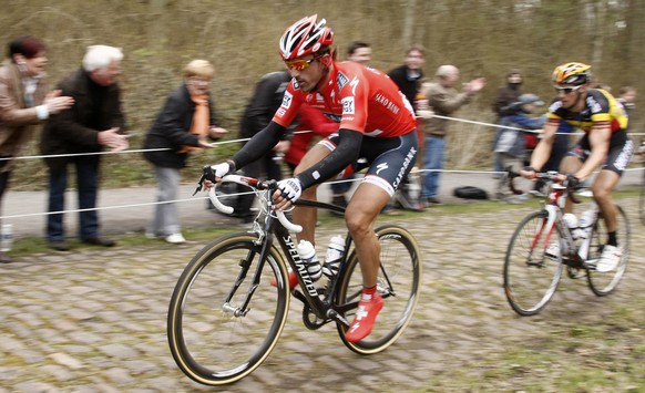
[[[463,85],[459,92],[454,85],[459,81],[459,69],[454,65],[441,65],[437,69],[436,80],[429,83],[422,92],[434,115],[451,116],[461,106],[468,104],[470,99],[482,90],[487,80],[474,79]],[[448,132],[448,120],[432,116],[423,122],[424,152],[423,152],[423,187],[421,200],[427,204],[438,204],[439,170],[443,167],[444,137]]]

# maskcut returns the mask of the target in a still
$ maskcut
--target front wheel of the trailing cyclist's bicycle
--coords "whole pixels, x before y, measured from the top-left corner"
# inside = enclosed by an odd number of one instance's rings
[[[563,248],[562,234],[557,224],[545,228],[547,218],[546,210],[525,217],[506,249],[504,292],[520,316],[540,312],[555,293],[562,277],[562,254],[546,254],[552,244]]]

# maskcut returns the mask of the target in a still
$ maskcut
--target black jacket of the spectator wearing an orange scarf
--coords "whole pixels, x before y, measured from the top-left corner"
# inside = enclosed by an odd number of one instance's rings
[[[213,102],[208,96],[209,124],[216,124]],[[156,166],[181,169],[186,166],[187,153],[177,153],[183,145],[198,146],[199,138],[191,134],[191,124],[195,113],[195,103],[186,84],[171,93],[152,127],[145,136],[144,149],[170,148],[165,151],[144,152],[143,156]]]

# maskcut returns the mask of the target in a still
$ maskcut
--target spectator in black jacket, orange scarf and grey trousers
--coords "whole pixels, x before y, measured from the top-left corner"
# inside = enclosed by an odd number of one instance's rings
[[[216,124],[208,86],[215,70],[206,60],[193,60],[184,68],[184,83],[164,104],[145,137],[144,157],[154,165],[158,182],[154,218],[149,237],[161,237],[171,244],[186,241],[181,231],[176,200],[180,169],[186,166],[188,152],[212,147],[209,138],[218,138],[226,130]]]

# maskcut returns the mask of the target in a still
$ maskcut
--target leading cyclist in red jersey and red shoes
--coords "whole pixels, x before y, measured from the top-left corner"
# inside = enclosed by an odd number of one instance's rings
[[[346,335],[357,342],[371,332],[383,306],[376,288],[380,245],[373,225],[416,161],[416,122],[410,103],[385,73],[354,62],[337,62],[332,43],[334,32],[325,19],[317,21],[317,15],[303,18],[285,31],[279,53],[293,80],[281,106],[270,124],[232,159],[205,167],[205,173],[216,180],[270,149],[301,103],[340,123],[338,133],[307,152],[295,177],[278,183],[274,199],[279,209],[288,208],[300,196],[316,199],[320,183],[368,167],[345,213],[364,281],[359,309]],[[294,209],[294,221],[304,228],[298,239],[314,242],[316,218],[316,209]]]

